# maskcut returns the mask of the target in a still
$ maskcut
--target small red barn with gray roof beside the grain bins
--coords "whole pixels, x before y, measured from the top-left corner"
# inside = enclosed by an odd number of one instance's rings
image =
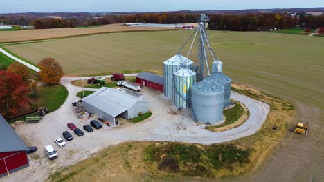
[[[136,76],[136,83],[163,92],[164,77],[150,72],[141,72]]]

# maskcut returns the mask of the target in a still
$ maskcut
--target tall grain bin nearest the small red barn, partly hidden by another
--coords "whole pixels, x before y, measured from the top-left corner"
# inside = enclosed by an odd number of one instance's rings
[[[181,63],[192,70],[193,62],[181,54],[177,54],[174,57],[164,61],[163,63],[163,75],[164,75],[164,95],[169,99],[174,99],[174,89],[173,89],[173,74],[181,69]]]

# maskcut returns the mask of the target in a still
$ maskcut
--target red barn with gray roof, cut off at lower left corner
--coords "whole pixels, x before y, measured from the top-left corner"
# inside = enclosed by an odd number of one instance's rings
[[[28,148],[0,114],[0,177],[29,166]]]

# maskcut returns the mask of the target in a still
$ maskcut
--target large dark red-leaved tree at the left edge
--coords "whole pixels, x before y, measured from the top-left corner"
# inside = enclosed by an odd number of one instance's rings
[[[16,114],[21,109],[29,109],[26,94],[29,90],[19,74],[0,71],[0,113],[4,117]]]

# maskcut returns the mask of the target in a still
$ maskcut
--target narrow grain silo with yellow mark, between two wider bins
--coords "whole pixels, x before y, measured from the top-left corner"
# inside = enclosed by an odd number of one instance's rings
[[[174,105],[177,108],[190,108],[190,92],[195,80],[196,73],[188,68],[174,73]]]

